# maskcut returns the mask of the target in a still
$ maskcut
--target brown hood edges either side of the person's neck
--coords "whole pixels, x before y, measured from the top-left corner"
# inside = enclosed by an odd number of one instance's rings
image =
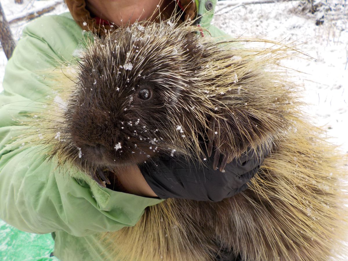
[[[198,13],[198,0],[180,0],[179,6],[183,10],[184,19],[194,19]],[[211,2],[211,1],[208,1]],[[98,17],[93,17],[86,8],[85,0],[65,0],[70,13],[76,23],[84,30],[90,30],[93,33],[104,35],[106,31],[112,30],[112,27],[107,21]]]

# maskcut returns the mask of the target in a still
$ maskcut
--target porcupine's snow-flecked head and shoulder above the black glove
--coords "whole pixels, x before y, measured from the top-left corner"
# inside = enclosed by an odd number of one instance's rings
[[[247,149],[271,147],[287,127],[291,92],[273,92],[277,84],[264,68],[269,52],[256,57],[199,30],[137,23],[95,39],[66,72],[68,105],[53,155],[93,175],[161,153],[203,162],[214,147],[226,164]]]

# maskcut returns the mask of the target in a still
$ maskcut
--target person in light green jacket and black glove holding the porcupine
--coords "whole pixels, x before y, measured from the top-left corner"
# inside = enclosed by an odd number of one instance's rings
[[[49,94],[49,85],[37,72],[53,69],[54,60],[72,61],[74,52],[83,49],[80,45],[84,31],[100,37],[117,27],[142,20],[160,22],[172,14],[179,14],[183,21],[196,19],[202,27],[208,27],[215,5],[215,1],[197,0],[177,3],[66,0],[66,3],[70,14],[42,17],[24,29],[23,38],[6,68],[5,91],[0,95],[3,105],[0,198],[6,201],[0,203],[0,218],[23,231],[52,232],[54,255],[61,260],[111,260],[98,242],[98,233],[134,226],[145,208],[163,199],[215,202],[232,197],[247,189],[267,152],[263,150],[255,155],[245,151],[240,158],[227,163],[217,148],[209,147],[202,137],[201,146],[209,156],[206,166],[184,157],[161,155],[140,168],[136,164],[123,166],[117,176],[98,168],[92,177],[79,173],[68,178],[69,170],[56,168],[54,157],[38,158],[32,145],[18,146],[12,136],[25,135],[25,127],[13,120],[22,112],[10,110],[11,103],[35,101]],[[174,12],[176,8],[181,10]],[[209,32],[215,37],[227,36],[214,26],[209,27]],[[56,135],[56,139],[60,139],[60,135]],[[116,145],[115,150],[118,148]],[[86,142],[81,145],[80,151],[84,154],[81,153],[80,158],[105,160],[102,156],[105,150],[105,146],[97,142]],[[183,179],[182,173],[189,173],[190,179]],[[206,179],[207,176],[213,179]],[[223,260],[237,260],[231,253],[227,258]]]

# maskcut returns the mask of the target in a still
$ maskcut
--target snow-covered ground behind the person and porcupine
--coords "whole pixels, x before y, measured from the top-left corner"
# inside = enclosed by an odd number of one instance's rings
[[[310,13],[301,1],[258,4],[251,1],[255,2],[255,0],[219,1],[214,24],[235,37],[280,41],[284,44],[297,45],[303,53],[308,54],[309,56],[293,57],[287,60],[285,65],[293,69],[294,79],[304,89],[303,99],[308,104],[304,110],[313,116],[316,125],[323,126],[327,134],[334,137],[331,139],[332,142],[341,145],[347,157],[348,7],[346,0],[317,0],[315,3],[321,2],[323,5],[315,13]],[[54,9],[47,14],[67,11],[62,0],[24,0],[22,5],[15,4],[14,0],[1,0],[1,4],[8,21],[29,13],[40,12],[50,6],[54,6]],[[28,21],[11,22],[15,40],[20,38],[27,23]],[[5,54],[0,49],[0,91],[6,62]],[[0,235],[0,241],[4,238],[3,233]]]

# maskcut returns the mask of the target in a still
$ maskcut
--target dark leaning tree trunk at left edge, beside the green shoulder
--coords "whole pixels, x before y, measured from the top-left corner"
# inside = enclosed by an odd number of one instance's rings
[[[10,29],[10,26],[6,20],[5,13],[2,10],[0,3],[0,41],[3,51],[7,57],[7,60],[12,56],[13,50],[16,47],[15,40]]]

